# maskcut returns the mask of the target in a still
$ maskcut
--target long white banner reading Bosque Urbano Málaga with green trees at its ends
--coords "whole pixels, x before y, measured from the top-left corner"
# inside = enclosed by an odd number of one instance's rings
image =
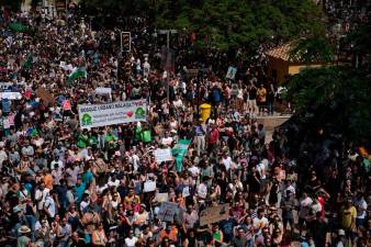
[[[147,101],[133,100],[106,104],[79,104],[81,128],[146,121]]]

